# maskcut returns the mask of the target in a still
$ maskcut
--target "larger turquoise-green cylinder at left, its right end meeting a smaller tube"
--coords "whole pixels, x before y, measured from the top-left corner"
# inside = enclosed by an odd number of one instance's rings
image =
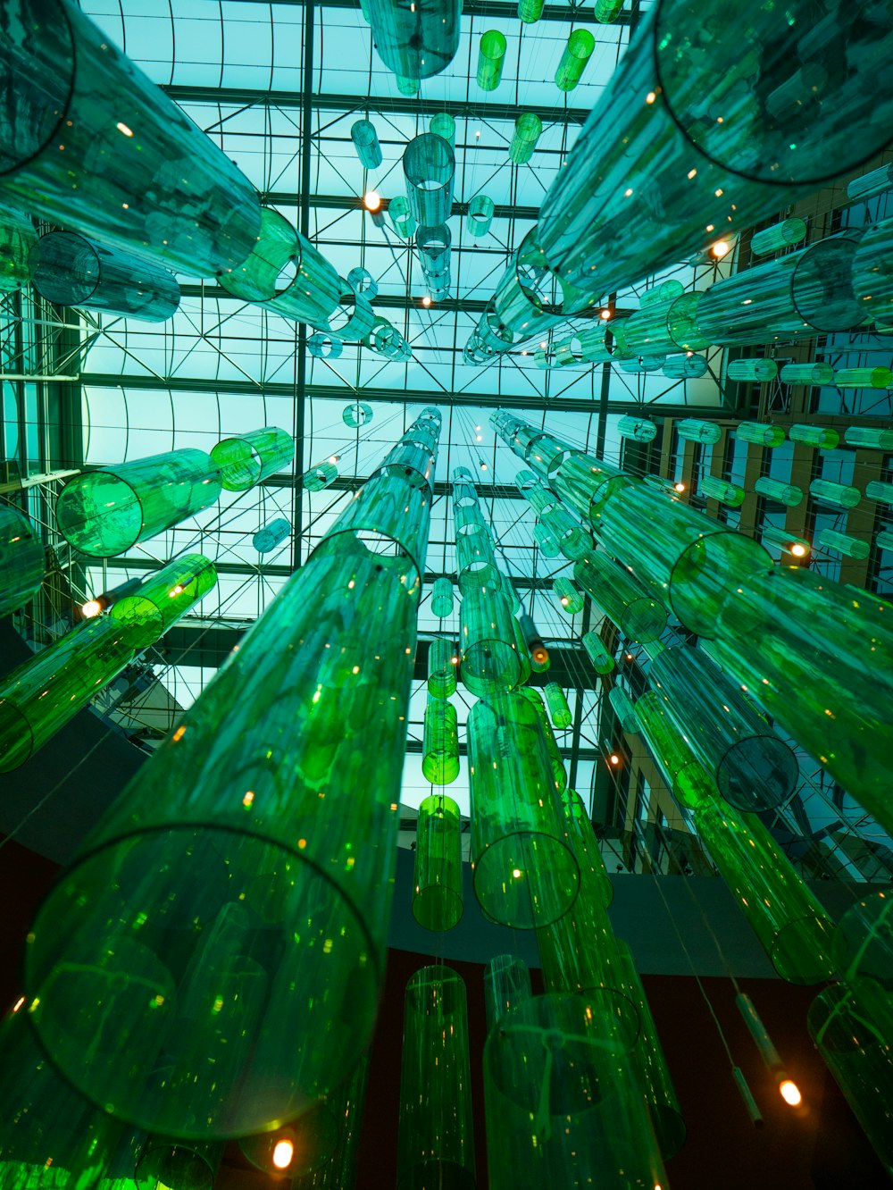
[[[150,455],[69,480],[56,525],[81,553],[112,558],[213,505],[220,489],[220,471],[203,451]]]

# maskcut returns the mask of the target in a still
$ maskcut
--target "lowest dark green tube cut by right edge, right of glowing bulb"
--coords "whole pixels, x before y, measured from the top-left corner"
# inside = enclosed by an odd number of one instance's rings
[[[872,1148],[893,1176],[893,1021],[888,1002],[866,985],[832,984],[813,1000],[806,1023]]]

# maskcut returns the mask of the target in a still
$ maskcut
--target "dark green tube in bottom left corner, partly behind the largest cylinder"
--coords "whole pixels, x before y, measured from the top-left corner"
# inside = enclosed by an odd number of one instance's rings
[[[19,1002],[0,1022],[0,1185],[94,1190],[118,1144],[121,1125],[59,1077],[40,1050]],[[52,1171],[51,1173],[49,1171]]]

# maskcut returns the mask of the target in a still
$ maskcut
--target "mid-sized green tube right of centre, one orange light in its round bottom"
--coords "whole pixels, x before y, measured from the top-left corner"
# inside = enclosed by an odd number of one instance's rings
[[[468,714],[474,894],[503,926],[532,929],[573,904],[579,866],[567,847],[536,709],[521,694],[493,695]]]

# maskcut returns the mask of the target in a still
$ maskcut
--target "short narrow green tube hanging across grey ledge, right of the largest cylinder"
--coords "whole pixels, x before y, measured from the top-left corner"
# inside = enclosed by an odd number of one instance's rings
[[[461,814],[445,794],[419,807],[413,916],[425,929],[444,931],[463,915]]]

